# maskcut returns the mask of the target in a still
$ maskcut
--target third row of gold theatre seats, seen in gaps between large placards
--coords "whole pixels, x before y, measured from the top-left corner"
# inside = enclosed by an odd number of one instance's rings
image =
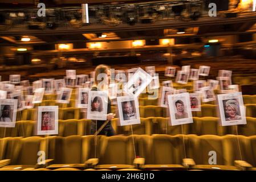
[[[246,117],[256,117],[256,104],[245,104]],[[160,106],[139,106],[140,117],[168,117],[168,108]],[[218,105],[203,104],[201,111],[193,111],[193,117],[218,117]],[[111,106],[111,112],[117,113],[116,106]],[[17,112],[17,121],[36,120],[36,109],[25,109]],[[86,118],[83,110],[76,107],[59,108],[59,119]]]

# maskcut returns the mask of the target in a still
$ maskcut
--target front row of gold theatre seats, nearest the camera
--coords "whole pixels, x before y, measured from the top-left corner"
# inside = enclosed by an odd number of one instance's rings
[[[0,147],[0,170],[67,167],[146,170],[256,169],[255,136],[18,137],[0,139]],[[38,163],[38,151],[45,154],[45,164]]]

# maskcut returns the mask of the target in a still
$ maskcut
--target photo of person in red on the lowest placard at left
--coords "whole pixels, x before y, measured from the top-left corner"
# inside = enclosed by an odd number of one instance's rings
[[[54,112],[46,111],[42,112],[42,125],[41,130],[54,130],[55,128],[55,116]]]

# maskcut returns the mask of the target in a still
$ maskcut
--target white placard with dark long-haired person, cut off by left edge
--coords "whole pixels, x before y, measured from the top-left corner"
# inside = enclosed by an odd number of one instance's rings
[[[0,100],[0,127],[15,127],[17,100]]]

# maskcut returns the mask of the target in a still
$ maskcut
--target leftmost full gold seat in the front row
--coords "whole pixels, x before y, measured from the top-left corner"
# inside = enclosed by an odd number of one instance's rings
[[[11,138],[8,141],[6,159],[11,159],[10,165],[3,168],[25,169],[35,168],[38,163],[38,152],[45,151],[42,137]]]

